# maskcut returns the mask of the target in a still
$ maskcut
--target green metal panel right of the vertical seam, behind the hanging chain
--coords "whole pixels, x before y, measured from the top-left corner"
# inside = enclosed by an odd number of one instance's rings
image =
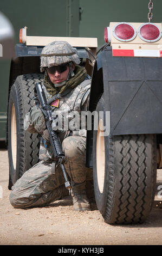
[[[109,22],[148,22],[149,0],[80,0],[83,9],[80,36],[98,38],[98,46],[104,41],[104,28]],[[161,22],[162,1],[153,0],[153,20]]]

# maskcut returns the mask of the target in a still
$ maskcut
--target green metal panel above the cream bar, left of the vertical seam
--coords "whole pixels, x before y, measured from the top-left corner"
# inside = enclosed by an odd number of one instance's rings
[[[74,8],[78,9],[78,14],[76,10],[73,14]],[[70,33],[73,26],[74,36],[79,33],[79,0],[8,0],[1,1],[0,10],[9,17],[14,26],[16,42],[19,29],[24,26],[28,27],[28,35],[35,36],[72,36]]]

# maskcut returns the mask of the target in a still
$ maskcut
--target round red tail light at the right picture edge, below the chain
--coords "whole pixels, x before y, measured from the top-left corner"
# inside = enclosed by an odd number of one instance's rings
[[[153,23],[145,23],[139,27],[138,35],[146,42],[155,42],[161,38],[161,31],[157,25]]]

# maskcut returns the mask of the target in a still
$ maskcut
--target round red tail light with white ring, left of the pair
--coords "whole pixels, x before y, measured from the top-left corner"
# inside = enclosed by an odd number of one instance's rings
[[[135,31],[134,27],[129,23],[122,22],[118,23],[113,28],[113,35],[116,39],[127,42],[133,40],[137,35],[137,32]]]

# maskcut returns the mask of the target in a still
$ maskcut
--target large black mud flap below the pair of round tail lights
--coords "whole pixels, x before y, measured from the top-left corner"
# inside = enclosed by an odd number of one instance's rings
[[[162,58],[101,53],[105,109],[112,135],[162,133]]]

